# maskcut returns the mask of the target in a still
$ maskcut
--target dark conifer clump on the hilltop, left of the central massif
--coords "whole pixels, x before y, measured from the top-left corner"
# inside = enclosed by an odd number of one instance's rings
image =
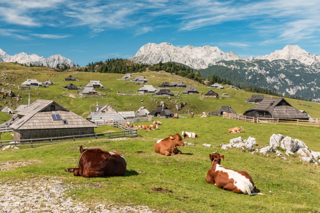
[[[105,62],[98,61],[89,63],[86,67],[79,68],[77,71],[125,74],[144,72],[147,67],[147,64],[131,64],[124,59],[108,59]]]

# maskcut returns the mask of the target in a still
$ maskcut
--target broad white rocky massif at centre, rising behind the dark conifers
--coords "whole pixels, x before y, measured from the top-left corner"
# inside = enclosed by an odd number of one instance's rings
[[[135,56],[128,60],[135,63],[156,64],[174,61],[188,65],[195,69],[204,69],[220,60],[243,59],[234,52],[223,52],[218,47],[175,47],[171,43],[147,43],[143,45]],[[244,59],[243,59],[244,60]]]

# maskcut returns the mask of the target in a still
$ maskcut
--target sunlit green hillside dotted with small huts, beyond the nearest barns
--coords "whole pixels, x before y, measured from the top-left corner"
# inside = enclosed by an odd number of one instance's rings
[[[7,101],[7,104],[2,103],[2,106],[10,106],[12,108],[17,107],[20,104],[28,104],[28,93],[31,96],[31,102],[36,99],[51,99],[57,103],[65,106],[70,111],[79,114],[83,117],[86,117],[89,114],[89,106],[92,108],[96,105],[96,100],[99,101],[99,104],[110,104],[116,110],[132,110],[136,111],[140,106],[145,106],[149,111],[153,110],[156,106],[159,105],[161,101],[164,101],[166,106],[172,111],[176,112],[175,101],[178,103],[185,102],[186,106],[179,111],[179,114],[184,114],[187,110],[193,111],[195,114],[202,112],[212,112],[217,110],[220,106],[232,106],[232,108],[237,113],[244,113],[245,110],[251,108],[252,104],[247,104],[244,102],[245,99],[248,99],[254,93],[237,91],[237,90],[214,90],[220,95],[222,93],[229,93],[231,99],[203,99],[199,98],[201,93],[206,93],[210,89],[207,86],[192,81],[190,79],[171,75],[164,72],[143,72],[132,74],[132,76],[143,75],[149,81],[146,84],[151,84],[156,87],[160,85],[163,81],[182,81],[188,86],[192,85],[197,88],[200,92],[199,95],[182,95],[183,88],[174,88],[171,89],[174,93],[180,92],[180,97],[173,97],[168,99],[167,97],[152,97],[150,95],[145,96],[118,96],[116,91],[127,91],[133,90],[137,91],[141,87],[139,84],[128,83],[128,81],[116,80],[121,78],[124,74],[109,74],[109,73],[88,73],[88,72],[55,72],[54,70],[46,67],[23,67],[20,65],[14,65],[12,63],[0,63],[0,83],[7,90],[12,90],[16,95],[21,96],[19,102],[15,98],[9,99],[4,97],[3,101]],[[2,68],[1,68],[2,67]],[[3,68],[7,68],[6,70]],[[50,76],[49,74],[54,74]],[[71,82],[76,86],[84,87],[90,80],[100,80],[101,83],[108,88],[97,89],[98,92],[104,94],[101,97],[82,97],[77,95],[77,91],[68,91],[61,89],[60,86],[66,86],[70,82],[63,81],[67,76],[72,75],[79,81]],[[53,83],[57,85],[49,86],[47,88],[37,88],[37,87],[22,87],[18,90],[19,84],[24,82],[27,78],[37,79],[41,82],[44,82],[47,79],[50,79]],[[9,83],[8,85],[6,85]],[[6,85],[6,86],[3,86]],[[265,95],[268,97],[268,95]],[[143,102],[141,102],[143,100]],[[305,110],[312,117],[320,117],[319,109],[320,105],[317,103],[309,103],[309,106],[298,105],[297,100],[295,99],[286,99],[292,106],[297,109]],[[156,103],[158,102],[158,103]],[[300,103],[302,103],[300,101]],[[131,105],[132,104],[132,105]],[[302,103],[304,104],[304,102]],[[308,103],[307,103],[308,104]]]

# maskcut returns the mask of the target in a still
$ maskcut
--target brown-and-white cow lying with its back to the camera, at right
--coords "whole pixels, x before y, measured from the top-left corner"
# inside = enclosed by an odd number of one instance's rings
[[[264,195],[263,193],[258,193],[252,178],[247,172],[236,171],[220,166],[221,159],[224,159],[224,155],[220,156],[219,153],[214,152],[209,154],[209,158],[211,160],[211,169],[205,178],[207,183],[238,194]]]

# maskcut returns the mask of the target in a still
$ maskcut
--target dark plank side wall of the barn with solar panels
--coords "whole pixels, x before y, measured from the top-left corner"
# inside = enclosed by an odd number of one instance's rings
[[[94,134],[94,127],[88,128],[63,128],[63,129],[37,129],[13,130],[14,140],[63,137],[72,135]]]

